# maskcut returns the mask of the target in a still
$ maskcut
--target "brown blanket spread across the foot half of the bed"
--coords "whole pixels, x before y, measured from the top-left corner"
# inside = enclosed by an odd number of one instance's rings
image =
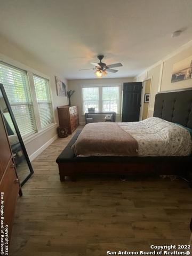
[[[76,156],[137,156],[138,142],[117,123],[85,125],[72,149]]]

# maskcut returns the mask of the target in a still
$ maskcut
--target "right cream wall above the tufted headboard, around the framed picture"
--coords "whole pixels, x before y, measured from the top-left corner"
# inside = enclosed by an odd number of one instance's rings
[[[192,87],[192,79],[171,83],[171,76],[174,63],[177,63],[192,55],[192,41],[181,46],[177,51],[170,53],[163,60],[158,61],[152,67],[149,67],[142,74],[134,78],[134,81],[144,81],[152,78],[149,116],[153,116],[155,94],[159,91],[170,91]]]

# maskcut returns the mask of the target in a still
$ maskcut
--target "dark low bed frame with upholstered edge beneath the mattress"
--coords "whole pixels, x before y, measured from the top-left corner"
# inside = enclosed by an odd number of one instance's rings
[[[76,157],[71,149],[79,133],[69,141],[57,158],[60,180],[68,176],[75,180],[78,174],[177,174],[189,176],[192,157]]]

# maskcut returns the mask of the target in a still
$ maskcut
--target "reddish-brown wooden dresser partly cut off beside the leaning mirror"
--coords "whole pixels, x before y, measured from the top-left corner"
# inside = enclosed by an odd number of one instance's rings
[[[13,225],[13,217],[18,194],[22,195],[18,176],[15,170],[13,161],[13,154],[10,142],[7,136],[5,124],[3,121],[2,112],[0,111],[0,198],[1,198],[1,217],[4,217],[3,228],[4,231],[4,253],[6,252],[6,230],[9,235],[9,243],[11,238],[11,231]],[[4,214],[3,214],[3,211]],[[2,215],[3,214],[3,215]],[[1,219],[2,220],[2,219]],[[8,225],[8,226],[7,226]],[[6,254],[5,254],[6,255]]]

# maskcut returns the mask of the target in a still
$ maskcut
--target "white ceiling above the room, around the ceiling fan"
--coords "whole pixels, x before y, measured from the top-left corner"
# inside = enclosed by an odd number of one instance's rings
[[[132,77],[192,39],[191,0],[0,0],[0,34],[67,79]],[[171,33],[185,29],[179,37]],[[1,51],[1,49],[0,49]]]

